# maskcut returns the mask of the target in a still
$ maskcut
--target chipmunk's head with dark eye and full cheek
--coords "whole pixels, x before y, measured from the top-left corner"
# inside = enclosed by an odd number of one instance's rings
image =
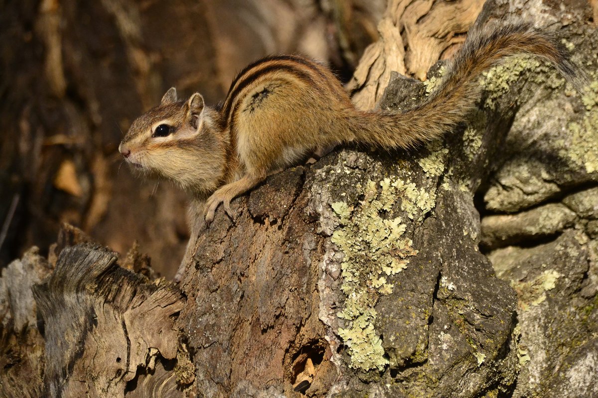
[[[219,114],[195,93],[187,101],[175,88],[160,105],[133,121],[118,146],[126,161],[145,174],[166,177],[184,189],[208,193],[221,177],[224,157]]]

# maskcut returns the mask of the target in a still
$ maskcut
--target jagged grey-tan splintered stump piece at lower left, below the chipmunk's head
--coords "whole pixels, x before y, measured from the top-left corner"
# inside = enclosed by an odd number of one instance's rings
[[[49,397],[184,394],[175,371],[181,292],[116,260],[97,245],[68,246],[49,280],[33,286],[44,320]]]

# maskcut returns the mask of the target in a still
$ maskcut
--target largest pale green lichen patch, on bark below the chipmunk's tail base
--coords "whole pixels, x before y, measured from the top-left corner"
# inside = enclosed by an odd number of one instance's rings
[[[417,254],[413,242],[403,237],[406,226],[401,218],[380,217],[392,209],[397,198],[407,196],[407,187],[414,190],[410,184],[398,181],[385,178],[378,184],[368,181],[365,188],[358,186],[364,199],[357,208],[342,202],[332,205],[341,226],[331,239],[344,254],[341,290],[346,296],[337,314],[346,320],[346,327],[339,328],[338,335],[347,346],[350,366],[364,371],[382,370],[389,363],[374,325],[377,317],[374,307],[380,295],[393,292],[394,285],[387,277],[404,270],[408,257]],[[378,186],[382,187],[380,192]],[[423,208],[428,209],[429,205]]]

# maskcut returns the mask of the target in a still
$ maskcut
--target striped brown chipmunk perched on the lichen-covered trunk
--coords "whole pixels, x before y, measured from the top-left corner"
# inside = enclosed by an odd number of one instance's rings
[[[133,122],[118,149],[131,165],[175,181],[204,203],[209,224],[220,203],[233,218],[234,197],[310,152],[351,141],[409,149],[441,137],[475,106],[478,76],[518,54],[544,58],[570,81],[579,79],[562,46],[527,24],[470,32],[440,87],[398,113],[358,110],[327,67],[276,55],[243,69],[214,107],[197,92],[178,100],[170,88],[160,105]]]

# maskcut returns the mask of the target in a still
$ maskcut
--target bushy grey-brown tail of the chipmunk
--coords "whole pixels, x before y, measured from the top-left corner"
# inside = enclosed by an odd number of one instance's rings
[[[576,87],[583,73],[550,34],[527,24],[507,24],[470,32],[447,65],[446,78],[423,104],[402,113],[364,112],[352,130],[356,140],[386,149],[416,146],[441,137],[466,118],[480,95],[478,76],[511,55],[530,54],[550,61]]]

